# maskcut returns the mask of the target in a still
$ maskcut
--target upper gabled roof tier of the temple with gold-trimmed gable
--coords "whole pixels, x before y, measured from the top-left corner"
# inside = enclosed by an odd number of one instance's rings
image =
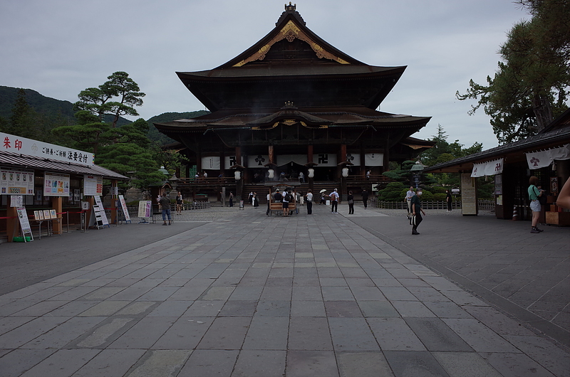
[[[289,4],[272,31],[232,60],[177,75],[212,112],[275,107],[289,100],[299,107],[375,109],[404,70],[367,65],[343,53],[307,28]]]

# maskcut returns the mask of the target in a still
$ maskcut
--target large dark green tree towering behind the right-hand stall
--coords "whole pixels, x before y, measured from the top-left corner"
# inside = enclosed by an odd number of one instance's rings
[[[491,117],[499,142],[536,134],[568,108],[570,83],[570,2],[521,0],[532,15],[507,34],[499,49],[502,61],[487,85],[470,80],[459,100],[475,99],[472,115],[481,106]]]

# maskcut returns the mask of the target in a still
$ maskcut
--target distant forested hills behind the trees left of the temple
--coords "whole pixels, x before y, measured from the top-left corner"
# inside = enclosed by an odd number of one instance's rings
[[[6,120],[11,117],[12,108],[16,103],[19,90],[19,87],[0,85],[0,117],[3,117]],[[74,124],[76,121],[74,117],[76,112],[73,110],[73,103],[46,97],[32,89],[24,89],[24,92],[26,92],[26,102],[28,102],[28,105],[30,105],[30,107],[39,114],[45,115],[48,118],[67,118],[70,121],[70,124]],[[160,142],[160,144],[170,144],[174,140],[158,132],[156,127],[152,125],[153,122],[172,122],[179,119],[195,118],[208,113],[209,112],[207,111],[199,110],[194,112],[164,112],[160,115],[155,115],[147,120],[149,126],[148,138],[156,140],[157,142]],[[113,118],[111,116],[105,117],[105,122],[113,122]],[[120,117],[117,124],[122,126],[130,122],[130,120]]]

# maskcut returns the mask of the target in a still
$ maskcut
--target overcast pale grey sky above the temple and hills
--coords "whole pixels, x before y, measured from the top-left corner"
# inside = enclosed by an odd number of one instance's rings
[[[75,102],[86,87],[123,70],[147,95],[138,108],[203,110],[176,71],[209,70],[269,33],[283,0],[1,0],[0,85]],[[307,26],[370,65],[408,65],[380,106],[384,112],[431,116],[415,137],[441,124],[448,141],[497,146],[489,117],[458,101],[469,80],[497,69],[499,45],[529,18],[510,0],[298,0]],[[288,4],[288,1],[287,1]]]

